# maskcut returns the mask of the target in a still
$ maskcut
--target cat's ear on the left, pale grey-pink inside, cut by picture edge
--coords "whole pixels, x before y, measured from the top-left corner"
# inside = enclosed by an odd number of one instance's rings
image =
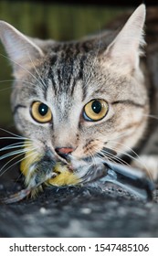
[[[12,63],[15,76],[19,70],[28,69],[31,62],[34,65],[36,59],[44,56],[41,48],[5,21],[0,21],[0,39]]]

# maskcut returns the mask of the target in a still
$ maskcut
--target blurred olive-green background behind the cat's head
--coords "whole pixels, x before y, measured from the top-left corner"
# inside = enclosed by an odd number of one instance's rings
[[[156,0],[158,1],[158,0]],[[155,1],[155,3],[156,3]],[[30,37],[77,39],[108,26],[116,16],[133,11],[142,1],[2,1],[0,19]],[[154,1],[146,1],[153,4]],[[117,27],[117,26],[116,26]],[[14,127],[10,111],[12,69],[0,44],[0,127]]]

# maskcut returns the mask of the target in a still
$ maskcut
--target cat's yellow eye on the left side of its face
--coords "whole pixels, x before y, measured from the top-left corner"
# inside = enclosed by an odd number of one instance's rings
[[[46,104],[35,101],[31,106],[31,115],[38,123],[49,123],[52,119],[52,113]]]

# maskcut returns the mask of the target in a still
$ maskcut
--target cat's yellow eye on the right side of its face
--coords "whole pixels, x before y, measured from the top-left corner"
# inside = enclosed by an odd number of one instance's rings
[[[83,118],[86,121],[100,121],[108,113],[108,103],[103,100],[92,100],[84,107]]]

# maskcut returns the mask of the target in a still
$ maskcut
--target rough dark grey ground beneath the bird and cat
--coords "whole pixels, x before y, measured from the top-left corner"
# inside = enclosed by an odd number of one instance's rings
[[[13,170],[1,178],[1,197],[20,188]],[[157,201],[156,192],[144,203],[120,192],[47,188],[36,199],[0,205],[0,237],[158,237]]]

